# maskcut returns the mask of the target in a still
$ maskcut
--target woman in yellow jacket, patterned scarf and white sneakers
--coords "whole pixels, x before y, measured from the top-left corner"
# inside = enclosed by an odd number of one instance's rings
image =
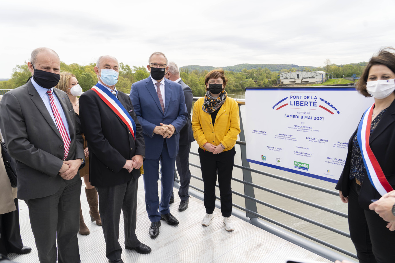
[[[225,229],[232,231],[231,178],[235,160],[235,144],[240,133],[239,106],[225,91],[228,79],[223,69],[214,69],[205,77],[206,95],[196,101],[192,116],[194,138],[199,144],[201,175],[204,184],[206,215],[201,224],[209,226],[214,217],[215,183],[221,197],[221,213]]]

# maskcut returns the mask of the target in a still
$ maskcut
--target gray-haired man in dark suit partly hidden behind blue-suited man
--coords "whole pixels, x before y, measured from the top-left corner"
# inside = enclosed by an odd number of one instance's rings
[[[178,190],[178,195],[180,196],[180,205],[178,207],[179,211],[184,211],[188,208],[189,203],[189,183],[191,181],[191,172],[189,170],[189,151],[191,149],[191,143],[195,140],[192,133],[192,123],[191,123],[191,110],[193,95],[192,90],[182,82],[180,78],[180,71],[176,63],[169,62],[169,69],[165,75],[165,78],[181,84],[182,90],[184,91],[186,109],[188,110],[188,120],[186,121],[184,127],[180,131],[180,142],[179,150],[175,163],[177,165],[177,171],[180,176],[180,189]],[[174,172],[175,175],[175,172]],[[172,196],[174,200],[174,195]]]

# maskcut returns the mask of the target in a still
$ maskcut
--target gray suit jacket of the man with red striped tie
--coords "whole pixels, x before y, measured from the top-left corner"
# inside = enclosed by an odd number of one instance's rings
[[[67,160],[85,159],[73,106],[64,91],[53,90],[69,125],[71,144]],[[17,160],[18,198],[29,200],[55,194],[63,181],[58,175],[63,164],[63,140],[31,80],[3,96],[0,129],[9,154]],[[81,180],[79,173],[64,181],[77,180]]]

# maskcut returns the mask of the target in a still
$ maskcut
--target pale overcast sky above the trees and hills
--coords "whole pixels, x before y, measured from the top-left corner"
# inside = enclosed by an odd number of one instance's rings
[[[395,47],[395,1],[2,1],[0,32],[0,78],[37,47],[81,65],[109,54],[145,66],[160,51],[179,67],[318,67]]]

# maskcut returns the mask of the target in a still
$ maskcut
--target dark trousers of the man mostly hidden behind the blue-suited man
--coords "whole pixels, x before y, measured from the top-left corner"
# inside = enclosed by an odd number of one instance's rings
[[[178,190],[178,195],[181,201],[186,201],[189,199],[189,183],[191,181],[191,171],[189,170],[189,151],[191,149],[191,144],[179,145],[178,154],[175,159],[175,164],[177,165],[177,172],[180,176],[180,189]]]

